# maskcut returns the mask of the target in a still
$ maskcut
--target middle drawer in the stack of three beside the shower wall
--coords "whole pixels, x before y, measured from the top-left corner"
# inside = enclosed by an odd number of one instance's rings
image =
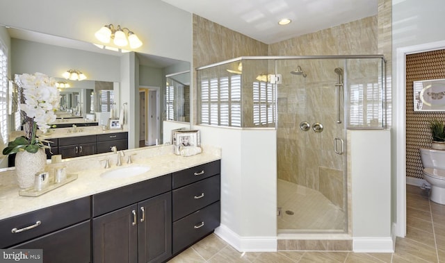
[[[173,190],[173,221],[220,199],[220,175]]]

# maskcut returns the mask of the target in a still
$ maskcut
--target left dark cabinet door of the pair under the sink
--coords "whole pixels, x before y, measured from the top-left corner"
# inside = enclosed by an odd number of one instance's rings
[[[93,262],[138,262],[137,205],[92,219]]]

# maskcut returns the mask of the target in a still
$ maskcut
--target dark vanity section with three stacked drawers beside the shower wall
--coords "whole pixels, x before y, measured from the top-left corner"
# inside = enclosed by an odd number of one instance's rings
[[[220,160],[172,174],[173,255],[220,225]]]

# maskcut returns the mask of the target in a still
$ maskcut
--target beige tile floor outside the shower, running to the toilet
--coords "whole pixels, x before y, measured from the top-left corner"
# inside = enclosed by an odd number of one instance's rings
[[[428,192],[407,185],[407,236],[397,238],[395,253],[278,251],[240,253],[212,234],[170,260],[184,262],[445,262],[445,205]]]

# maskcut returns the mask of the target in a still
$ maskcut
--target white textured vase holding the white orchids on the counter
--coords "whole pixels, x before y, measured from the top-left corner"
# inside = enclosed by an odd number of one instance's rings
[[[34,185],[35,173],[44,171],[47,163],[47,155],[44,149],[39,149],[37,153],[19,151],[15,155],[15,174],[20,188],[28,188]]]

